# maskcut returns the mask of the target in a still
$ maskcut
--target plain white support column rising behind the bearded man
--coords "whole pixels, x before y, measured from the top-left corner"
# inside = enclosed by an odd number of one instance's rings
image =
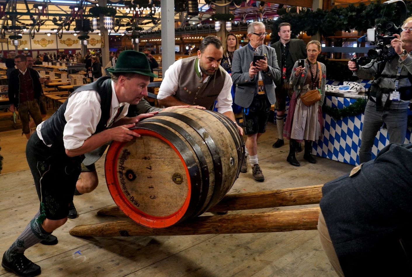
[[[162,74],[175,62],[175,5],[173,1],[161,0],[162,12]]]

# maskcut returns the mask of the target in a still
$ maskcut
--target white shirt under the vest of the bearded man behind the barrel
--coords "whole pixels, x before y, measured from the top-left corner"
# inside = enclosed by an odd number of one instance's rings
[[[162,80],[162,84],[159,88],[159,94],[157,94],[157,99],[164,99],[168,96],[175,95],[178,89],[179,83],[179,74],[180,69],[182,68],[182,60],[177,60],[176,62],[171,65],[166,72],[164,72],[164,78]],[[200,70],[200,63],[197,63],[200,76],[202,76],[202,72]],[[225,84],[223,85],[222,91],[219,93],[218,98],[216,99],[218,102],[215,105],[215,108],[218,109],[218,112],[221,114],[224,112],[232,112],[232,94],[230,93],[232,90],[232,78],[230,77],[229,73],[226,73],[225,77]],[[203,83],[206,83],[210,76],[204,79]]]

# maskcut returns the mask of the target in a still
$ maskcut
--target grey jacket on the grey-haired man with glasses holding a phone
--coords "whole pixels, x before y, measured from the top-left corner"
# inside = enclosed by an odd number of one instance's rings
[[[265,85],[267,99],[270,104],[274,104],[276,102],[274,81],[281,77],[281,71],[279,70],[275,49],[267,45],[262,45],[262,47],[262,55],[266,54],[267,65],[269,66],[267,73],[262,72],[263,84]],[[233,54],[232,80],[234,84],[237,84],[234,102],[244,108],[249,107],[255,97],[255,86],[258,77],[253,79],[249,77],[250,63],[253,61],[254,55],[257,55],[257,53],[250,49],[248,45],[237,49]]]

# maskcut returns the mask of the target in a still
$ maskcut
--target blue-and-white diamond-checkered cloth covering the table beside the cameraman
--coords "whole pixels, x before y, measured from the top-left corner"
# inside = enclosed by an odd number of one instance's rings
[[[354,103],[356,99],[336,96],[325,96],[326,105],[342,109]],[[331,160],[359,164],[358,151],[361,146],[361,134],[363,127],[363,113],[349,116],[335,121],[329,115],[323,113],[324,129],[323,138],[313,143],[312,154],[329,158]],[[405,143],[411,142],[411,130],[408,129]],[[372,147],[372,158],[389,144],[387,129],[381,128],[375,137]]]

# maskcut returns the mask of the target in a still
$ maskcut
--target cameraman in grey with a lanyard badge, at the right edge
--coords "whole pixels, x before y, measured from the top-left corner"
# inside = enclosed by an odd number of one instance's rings
[[[365,66],[357,66],[353,61],[348,63],[353,75],[361,79],[375,77],[365,108],[359,163],[372,159],[373,142],[383,123],[388,128],[390,143],[403,144],[405,141],[407,109],[412,98],[412,18],[404,21],[402,29],[400,37],[394,34],[396,38],[391,40],[391,46],[398,54],[391,61]]]

